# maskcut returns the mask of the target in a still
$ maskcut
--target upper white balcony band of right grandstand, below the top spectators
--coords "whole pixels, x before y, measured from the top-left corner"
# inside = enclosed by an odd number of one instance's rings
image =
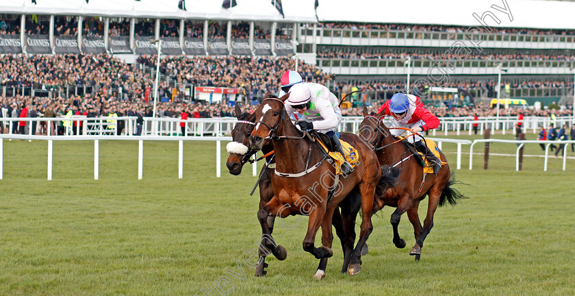
[[[457,42],[474,49],[466,32],[394,31],[379,29],[316,28],[300,26],[298,42],[317,45],[388,46],[388,47],[453,47]],[[500,49],[575,49],[575,36],[535,34],[472,33],[482,48]],[[315,41],[314,41],[315,37]]]

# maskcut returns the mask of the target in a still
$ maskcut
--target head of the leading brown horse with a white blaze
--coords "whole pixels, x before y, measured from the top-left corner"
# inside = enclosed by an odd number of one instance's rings
[[[259,107],[253,112],[255,127],[250,136],[250,145],[253,150],[259,151],[266,138],[279,136],[283,131],[285,119],[289,120],[283,101],[288,97],[290,97],[289,93],[279,99],[268,97],[261,101]]]

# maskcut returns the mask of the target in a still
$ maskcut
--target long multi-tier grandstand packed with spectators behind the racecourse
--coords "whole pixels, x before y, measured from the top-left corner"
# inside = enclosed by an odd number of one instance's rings
[[[258,64],[277,73],[293,66],[290,58],[299,60],[306,80],[338,95],[363,88],[367,102],[405,90],[408,72],[409,89],[428,101],[487,101],[498,93],[498,65],[507,71],[502,97],[544,106],[573,98],[575,27],[565,21],[575,10],[572,2],[485,2],[463,13],[449,11],[459,7],[453,0],[355,1],[355,7],[369,8],[361,11],[341,0],[207,2],[3,1],[0,95],[143,99],[155,79],[156,39],[165,56],[159,88],[167,99],[174,99],[172,89],[177,99],[193,100],[195,86],[219,86],[237,88],[238,97],[252,103],[265,90],[277,90],[278,77],[261,77],[266,69]],[[425,9],[397,13],[405,5]],[[554,16],[536,17],[548,12]],[[248,69],[233,69],[230,61]],[[34,67],[23,67],[27,62]],[[35,77],[47,65],[60,69]],[[251,74],[240,74],[244,70]],[[430,93],[433,86],[459,91]]]

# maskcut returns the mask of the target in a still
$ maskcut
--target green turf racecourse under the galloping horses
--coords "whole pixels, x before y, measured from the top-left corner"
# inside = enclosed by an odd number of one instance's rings
[[[268,275],[253,277],[243,256],[261,233],[259,200],[248,195],[255,177],[251,167],[229,175],[222,163],[216,178],[214,142],[184,145],[183,180],[177,143],[144,143],[144,180],[137,142],[100,141],[97,181],[90,141],[54,143],[52,181],[45,141],[4,140],[3,149],[0,295],[203,295],[210,288],[220,295],[218,284],[229,295],[575,294],[575,160],[561,171],[552,158],[544,172],[543,158],[526,158],[516,172],[514,157],[491,156],[485,171],[476,156],[469,171],[464,156],[456,177],[469,186],[457,188],[470,198],[437,210],[420,262],[408,255],[415,241],[407,215],[400,223],[407,247],[396,249],[393,209],[385,208],[374,217],[361,273],[339,272],[335,238],[327,277],[316,281],[318,260],[301,247],[307,219],[292,230],[277,224],[274,238],[288,258],[270,257]],[[444,151],[455,168],[455,145],[445,143]],[[491,151],[513,154],[515,147]],[[539,146],[526,148],[535,153]],[[425,209],[426,201],[421,219]]]

